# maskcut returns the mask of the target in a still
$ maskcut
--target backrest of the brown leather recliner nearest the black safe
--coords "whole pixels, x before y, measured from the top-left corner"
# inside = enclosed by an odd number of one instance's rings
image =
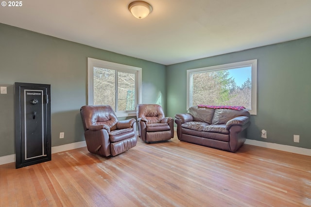
[[[80,109],[84,130],[89,126],[107,125],[110,130],[117,129],[118,118],[109,105],[83,106]]]

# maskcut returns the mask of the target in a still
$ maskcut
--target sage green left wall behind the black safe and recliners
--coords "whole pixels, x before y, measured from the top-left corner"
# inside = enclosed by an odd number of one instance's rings
[[[51,84],[52,146],[84,141],[79,110],[87,102],[87,57],[141,67],[142,102],[166,109],[165,65],[0,24],[0,86],[8,87],[0,94],[0,156],[15,153],[15,82]]]

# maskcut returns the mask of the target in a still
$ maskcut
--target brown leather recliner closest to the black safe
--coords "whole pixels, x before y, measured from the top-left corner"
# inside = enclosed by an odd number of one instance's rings
[[[101,156],[116,156],[136,146],[136,120],[118,121],[109,105],[83,106],[80,114],[87,150]]]

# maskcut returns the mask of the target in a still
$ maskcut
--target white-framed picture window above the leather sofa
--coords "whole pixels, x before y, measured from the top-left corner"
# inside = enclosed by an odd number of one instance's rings
[[[257,60],[187,70],[187,109],[199,104],[244,106],[257,114]]]

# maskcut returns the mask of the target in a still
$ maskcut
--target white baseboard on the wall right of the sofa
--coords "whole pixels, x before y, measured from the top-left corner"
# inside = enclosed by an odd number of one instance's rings
[[[261,146],[261,147],[265,147],[269,149],[276,149],[276,150],[296,153],[300,155],[311,156],[311,149],[302,148],[302,147],[283,145],[283,144],[277,144],[277,143],[266,143],[266,142],[261,142],[257,140],[249,140],[249,139],[246,139],[245,144]]]

